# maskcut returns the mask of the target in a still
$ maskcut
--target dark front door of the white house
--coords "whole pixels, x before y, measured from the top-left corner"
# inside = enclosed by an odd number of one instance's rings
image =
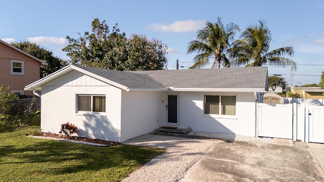
[[[167,124],[179,125],[178,94],[167,94]]]

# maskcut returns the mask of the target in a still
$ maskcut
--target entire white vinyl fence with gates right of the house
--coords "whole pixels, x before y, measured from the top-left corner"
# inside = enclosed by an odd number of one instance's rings
[[[257,134],[324,143],[324,106],[257,103]]]

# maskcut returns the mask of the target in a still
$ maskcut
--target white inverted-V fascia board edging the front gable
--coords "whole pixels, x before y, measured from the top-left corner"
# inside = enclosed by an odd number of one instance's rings
[[[47,82],[61,76],[62,74],[65,74],[65,73],[67,73],[67,72],[69,72],[71,70],[76,70],[76,71],[82,72],[82,73],[84,73],[86,75],[89,75],[89,76],[94,77],[94,78],[96,78],[96,79],[98,79],[100,81],[106,82],[106,83],[108,83],[110,85],[116,86],[116,87],[124,89],[124,90],[127,90],[127,88],[128,88],[127,86],[124,86],[124,85],[121,85],[121,84],[116,83],[114,81],[111,81],[109,79],[103,78],[103,77],[98,76],[98,75],[96,75],[94,73],[88,72],[88,71],[86,71],[84,69],[78,68],[78,67],[73,66],[73,65],[68,65],[68,66],[66,66],[66,67],[64,67],[64,68],[62,68],[62,69],[60,69],[60,70],[58,70],[58,71],[44,77],[44,78],[42,78],[42,79],[39,79],[39,80],[25,86],[24,89],[25,90],[41,90],[41,86],[43,84],[45,84],[45,83],[47,83]]]

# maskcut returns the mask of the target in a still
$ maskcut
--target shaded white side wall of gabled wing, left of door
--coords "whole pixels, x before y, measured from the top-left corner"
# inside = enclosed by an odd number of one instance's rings
[[[153,131],[164,124],[164,92],[122,91],[121,142]]]

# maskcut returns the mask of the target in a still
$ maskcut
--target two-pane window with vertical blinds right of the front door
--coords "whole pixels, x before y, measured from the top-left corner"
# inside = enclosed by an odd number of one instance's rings
[[[205,114],[236,115],[236,96],[205,96]]]

